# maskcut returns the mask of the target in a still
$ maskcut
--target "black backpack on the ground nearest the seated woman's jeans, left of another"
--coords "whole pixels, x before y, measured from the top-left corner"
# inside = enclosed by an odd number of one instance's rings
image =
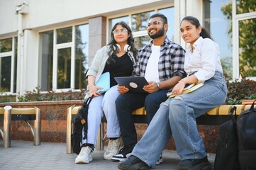
[[[214,169],[216,170],[238,170],[240,169],[238,159],[238,133],[236,127],[236,107],[233,106],[226,123],[220,125],[220,137],[217,143]],[[235,114],[234,114],[235,113]]]

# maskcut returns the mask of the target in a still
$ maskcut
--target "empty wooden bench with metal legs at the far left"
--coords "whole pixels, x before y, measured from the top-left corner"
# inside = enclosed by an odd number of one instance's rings
[[[4,120],[4,130],[0,129],[1,136],[4,139],[3,147],[11,147],[11,120],[24,120],[34,137],[34,145],[40,145],[41,121],[39,108],[11,108],[11,106],[5,106],[0,108],[0,120]],[[34,120],[34,128],[31,127],[28,120]]]

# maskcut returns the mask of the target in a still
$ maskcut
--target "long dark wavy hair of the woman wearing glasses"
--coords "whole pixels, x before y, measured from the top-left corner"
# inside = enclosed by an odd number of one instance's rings
[[[130,52],[133,52],[133,57],[136,57],[137,54],[137,50],[135,49],[135,45],[134,45],[134,38],[133,38],[133,33],[132,30],[130,29],[130,27],[128,26],[128,24],[126,22],[120,21],[118,23],[115,24],[115,26],[113,26],[113,28],[111,29],[111,39],[108,42],[108,45],[110,46],[110,51],[108,52],[108,61],[112,60],[113,55],[116,55],[116,52],[118,52],[118,47],[116,46],[116,40],[113,37],[113,30],[116,29],[116,27],[118,25],[121,25],[123,28],[126,28],[126,30],[128,30],[128,39],[127,39],[127,44],[130,45]],[[135,58],[136,59],[136,58]]]

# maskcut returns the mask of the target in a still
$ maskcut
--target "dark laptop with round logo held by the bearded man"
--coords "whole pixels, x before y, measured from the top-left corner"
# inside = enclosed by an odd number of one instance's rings
[[[119,85],[126,86],[131,93],[147,93],[143,86],[148,84],[145,77],[114,77]]]

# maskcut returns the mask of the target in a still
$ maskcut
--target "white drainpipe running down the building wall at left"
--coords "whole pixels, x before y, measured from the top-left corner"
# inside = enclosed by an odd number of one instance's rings
[[[26,72],[24,70],[24,64],[26,61],[24,60],[24,31],[23,31],[23,14],[28,13],[28,4],[23,2],[16,6],[16,14],[18,15],[18,52],[17,52],[17,94],[23,95],[24,91],[24,83],[26,82]],[[18,98],[16,97],[16,101]]]

